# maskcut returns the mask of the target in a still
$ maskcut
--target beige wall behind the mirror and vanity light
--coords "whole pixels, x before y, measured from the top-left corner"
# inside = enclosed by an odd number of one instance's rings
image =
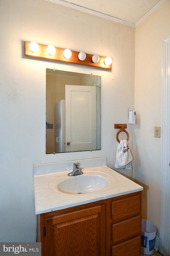
[[[43,0],[0,1],[0,14],[0,241],[33,242],[33,164],[106,156],[114,167],[114,123],[127,123],[134,107],[135,31]],[[24,41],[111,56],[112,70],[24,57]],[[45,154],[46,68],[101,76],[101,150]]]

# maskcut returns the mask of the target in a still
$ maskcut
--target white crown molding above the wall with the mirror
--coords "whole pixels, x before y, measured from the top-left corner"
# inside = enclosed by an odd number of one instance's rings
[[[117,23],[121,23],[121,24],[130,26],[130,27],[135,27],[135,24],[132,23],[132,22],[125,21],[124,19],[119,19],[119,18],[113,17],[111,15],[101,13],[99,11],[91,10],[89,8],[86,8],[86,7],[83,7],[83,6],[80,6],[80,5],[75,5],[74,3],[70,3],[70,2],[67,2],[67,1],[63,1],[63,0],[44,0],[44,1],[57,3],[58,5],[66,6],[66,7],[69,7],[71,9],[78,10],[78,11],[83,11],[85,13],[89,13],[89,14],[92,14],[92,15],[95,15],[95,16],[98,16],[98,17],[101,17],[101,18],[104,18],[104,19],[108,19],[110,21],[115,21]]]

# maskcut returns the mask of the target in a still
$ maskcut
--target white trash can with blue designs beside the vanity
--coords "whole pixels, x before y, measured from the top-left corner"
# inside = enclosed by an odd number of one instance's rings
[[[141,253],[150,255],[153,253],[156,240],[157,227],[149,220],[142,219]]]

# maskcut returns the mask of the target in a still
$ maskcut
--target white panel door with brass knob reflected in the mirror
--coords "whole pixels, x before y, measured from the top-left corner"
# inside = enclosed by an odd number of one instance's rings
[[[96,149],[96,87],[65,85],[66,152]]]

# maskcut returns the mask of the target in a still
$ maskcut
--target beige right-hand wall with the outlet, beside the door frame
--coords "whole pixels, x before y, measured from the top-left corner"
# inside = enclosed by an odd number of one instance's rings
[[[142,217],[160,228],[162,126],[162,40],[170,35],[170,1],[135,29],[135,179],[143,185]],[[162,127],[161,127],[162,128]]]

